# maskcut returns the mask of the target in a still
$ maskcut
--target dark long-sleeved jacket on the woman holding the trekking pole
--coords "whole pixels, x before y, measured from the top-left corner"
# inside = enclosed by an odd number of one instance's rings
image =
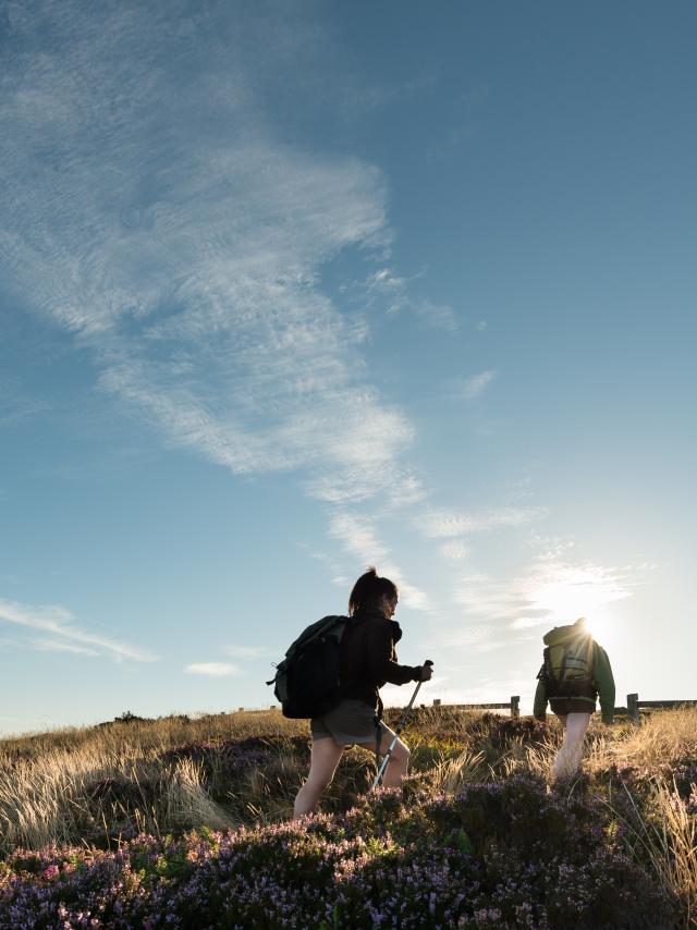
[[[402,638],[400,624],[377,611],[355,613],[341,640],[341,690],[344,698],[358,698],[382,712],[378,689],[387,682],[404,685],[418,682],[420,665],[400,665],[394,644]]]

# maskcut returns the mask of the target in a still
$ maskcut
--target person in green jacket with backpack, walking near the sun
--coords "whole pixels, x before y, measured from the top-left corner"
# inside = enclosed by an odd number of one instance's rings
[[[549,781],[573,778],[580,766],[584,737],[600,697],[602,722],[614,718],[614,678],[606,650],[588,629],[585,617],[555,626],[542,637],[545,662],[538,674],[533,713],[545,720],[547,702],[564,727],[564,742],[552,763]]]

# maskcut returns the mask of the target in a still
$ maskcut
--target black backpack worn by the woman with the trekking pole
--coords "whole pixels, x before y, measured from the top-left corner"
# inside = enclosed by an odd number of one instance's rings
[[[274,666],[276,675],[267,685],[274,685],[284,717],[321,717],[337,707],[341,640],[347,623],[347,616],[323,616],[310,624]]]

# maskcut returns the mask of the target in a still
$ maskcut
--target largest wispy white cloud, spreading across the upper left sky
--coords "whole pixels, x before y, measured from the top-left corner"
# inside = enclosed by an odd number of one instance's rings
[[[13,14],[4,272],[168,442],[235,474],[302,470],[331,503],[370,497],[399,479],[413,429],[362,374],[365,328],[318,281],[342,249],[384,252],[382,175],[273,137],[244,11],[158,9]],[[374,278],[403,287],[388,269]]]

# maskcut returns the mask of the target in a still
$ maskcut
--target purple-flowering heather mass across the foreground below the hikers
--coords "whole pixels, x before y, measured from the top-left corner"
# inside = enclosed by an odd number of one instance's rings
[[[672,926],[674,900],[600,842],[602,817],[529,779],[456,797],[415,779],[345,816],[140,836],[91,857],[19,854],[0,927]]]

